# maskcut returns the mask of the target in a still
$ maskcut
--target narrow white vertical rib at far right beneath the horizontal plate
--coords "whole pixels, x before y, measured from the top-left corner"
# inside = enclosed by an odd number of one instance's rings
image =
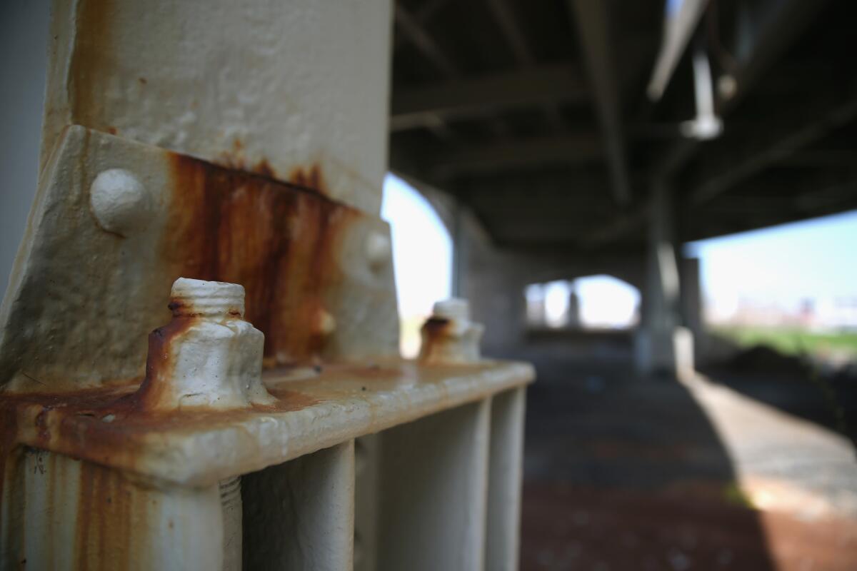
[[[485,568],[490,571],[518,568],[525,401],[526,390],[519,388],[500,393],[491,402],[485,550]]]

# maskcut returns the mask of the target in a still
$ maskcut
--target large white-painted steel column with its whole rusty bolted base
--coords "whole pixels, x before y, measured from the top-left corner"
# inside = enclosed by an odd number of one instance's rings
[[[391,3],[108,8],[51,10],[0,568],[513,568],[532,367],[460,300],[399,356]]]

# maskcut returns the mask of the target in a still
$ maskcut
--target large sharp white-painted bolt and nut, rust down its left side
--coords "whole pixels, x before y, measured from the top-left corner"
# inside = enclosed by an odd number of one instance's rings
[[[244,288],[180,277],[170,324],[149,335],[148,410],[242,408],[275,399],[261,382],[265,336],[243,320]]]

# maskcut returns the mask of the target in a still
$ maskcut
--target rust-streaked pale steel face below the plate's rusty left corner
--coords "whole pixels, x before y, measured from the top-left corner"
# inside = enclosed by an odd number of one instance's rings
[[[15,464],[14,491],[3,498],[0,567],[223,568],[218,485],[159,489],[35,449],[21,450]]]

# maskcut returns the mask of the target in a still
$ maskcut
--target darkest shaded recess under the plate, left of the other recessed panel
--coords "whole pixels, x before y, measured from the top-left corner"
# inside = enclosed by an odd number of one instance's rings
[[[351,570],[354,441],[242,478],[244,568]]]

